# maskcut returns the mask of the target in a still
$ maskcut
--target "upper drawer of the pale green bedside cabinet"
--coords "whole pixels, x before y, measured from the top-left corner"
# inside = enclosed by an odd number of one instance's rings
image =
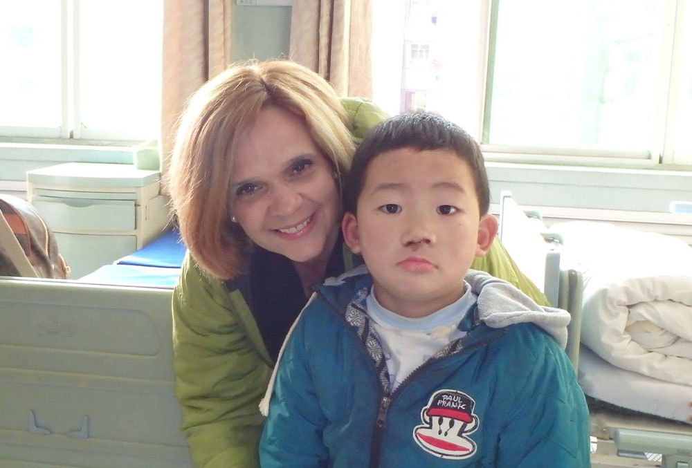
[[[31,203],[52,230],[132,231],[135,228],[134,200],[37,196]]]

